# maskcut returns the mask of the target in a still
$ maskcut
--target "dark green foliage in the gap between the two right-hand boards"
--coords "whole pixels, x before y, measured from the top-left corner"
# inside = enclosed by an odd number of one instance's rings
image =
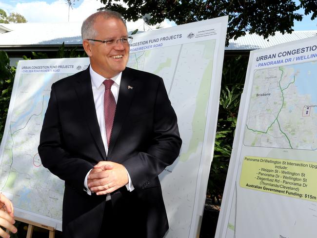
[[[213,202],[216,198],[219,203],[223,194],[247,63],[248,59],[241,56],[225,59],[223,63],[214,158],[207,188]]]

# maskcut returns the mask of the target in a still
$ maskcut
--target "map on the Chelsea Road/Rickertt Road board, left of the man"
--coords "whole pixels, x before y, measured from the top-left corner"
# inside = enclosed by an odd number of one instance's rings
[[[22,73],[15,79],[0,151],[0,190],[15,208],[53,220],[61,220],[64,182],[43,168],[37,147],[51,85],[67,76]]]

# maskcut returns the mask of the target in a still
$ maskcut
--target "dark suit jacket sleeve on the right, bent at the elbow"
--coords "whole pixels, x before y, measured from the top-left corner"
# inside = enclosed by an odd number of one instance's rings
[[[153,138],[146,152],[139,152],[123,165],[129,172],[135,188],[155,179],[166,166],[177,159],[181,146],[177,117],[160,79],[154,105]]]

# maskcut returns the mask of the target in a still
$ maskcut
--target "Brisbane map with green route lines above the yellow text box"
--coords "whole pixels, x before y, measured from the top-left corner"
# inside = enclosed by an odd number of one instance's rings
[[[244,145],[317,149],[317,61],[255,71]]]

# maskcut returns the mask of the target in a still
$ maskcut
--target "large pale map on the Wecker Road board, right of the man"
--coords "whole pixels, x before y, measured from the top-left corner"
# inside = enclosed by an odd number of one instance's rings
[[[190,174],[198,174],[198,162],[201,160],[215,42],[206,40],[133,53],[128,63],[129,67],[164,79],[178,116],[179,133],[183,140],[181,153],[177,163],[167,167],[160,175],[171,227],[167,237],[188,237],[190,229],[197,186],[197,178]],[[186,57],[188,55],[191,57]],[[156,63],[153,64],[153,61]]]

